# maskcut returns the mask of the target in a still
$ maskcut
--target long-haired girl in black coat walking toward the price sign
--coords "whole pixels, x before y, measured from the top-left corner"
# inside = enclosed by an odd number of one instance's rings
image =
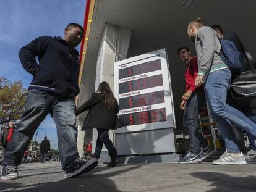
[[[119,162],[119,157],[116,148],[114,148],[112,141],[109,139],[108,131],[115,128],[119,106],[108,83],[100,83],[96,93],[93,93],[92,97],[75,111],[75,115],[79,115],[88,109],[89,112],[83,122],[82,131],[87,128],[96,128],[98,131],[93,157],[100,158],[104,143],[111,157],[108,167],[114,167]]]

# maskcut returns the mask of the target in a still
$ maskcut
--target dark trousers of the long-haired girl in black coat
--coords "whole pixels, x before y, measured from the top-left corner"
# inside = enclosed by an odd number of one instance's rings
[[[98,131],[98,138],[96,141],[94,156],[97,158],[100,158],[100,153],[103,148],[103,143],[105,147],[108,149],[108,152],[111,152],[114,149],[114,145],[112,141],[109,139],[109,135],[108,135],[109,129],[97,128],[97,131]]]

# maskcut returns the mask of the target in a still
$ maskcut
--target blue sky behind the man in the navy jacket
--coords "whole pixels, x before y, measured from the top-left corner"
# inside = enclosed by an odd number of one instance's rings
[[[68,23],[83,26],[85,4],[86,0],[1,0],[0,77],[12,83],[21,80],[24,88],[28,88],[32,75],[20,64],[20,48],[38,36],[63,37]],[[80,50],[80,45],[77,49]],[[49,115],[37,130],[36,141],[43,140],[45,130],[51,148],[57,148],[56,127]]]

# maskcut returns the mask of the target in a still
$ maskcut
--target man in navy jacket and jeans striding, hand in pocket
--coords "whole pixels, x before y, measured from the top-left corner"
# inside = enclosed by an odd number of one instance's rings
[[[75,177],[92,170],[98,160],[80,159],[77,152],[75,101],[79,93],[79,52],[74,49],[83,38],[83,28],[70,23],[61,37],[41,36],[20,49],[23,68],[33,75],[22,120],[14,131],[4,161],[3,180],[19,177],[17,166],[22,161],[36,129],[51,114],[57,127],[59,155],[65,178]],[[38,57],[39,64],[35,57]]]

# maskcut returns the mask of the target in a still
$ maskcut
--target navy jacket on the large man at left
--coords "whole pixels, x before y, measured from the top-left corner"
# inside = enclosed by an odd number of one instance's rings
[[[79,94],[79,52],[70,51],[61,37],[36,38],[20,49],[19,57],[23,68],[33,75],[28,89],[52,91],[62,96]]]

